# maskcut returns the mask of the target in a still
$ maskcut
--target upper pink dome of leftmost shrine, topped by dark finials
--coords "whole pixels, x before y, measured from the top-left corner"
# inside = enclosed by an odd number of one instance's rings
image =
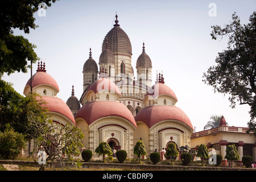
[[[38,69],[36,70],[36,73],[32,76],[32,87],[34,88],[35,86],[39,86],[39,85],[49,85],[55,88],[57,92],[60,91],[59,85],[57,84],[55,79],[51,75],[46,73],[45,64],[43,65],[42,61],[41,61],[41,65],[38,62]],[[23,94],[25,94],[26,90],[30,87],[31,87],[31,78],[27,81]]]

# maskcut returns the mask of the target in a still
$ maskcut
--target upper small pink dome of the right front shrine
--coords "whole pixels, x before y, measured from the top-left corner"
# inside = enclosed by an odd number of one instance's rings
[[[167,85],[164,84],[164,82],[156,82],[155,85],[153,85],[148,92],[146,93],[146,96],[152,96],[153,98],[156,98],[158,96],[161,95],[169,95],[175,98],[175,100],[177,101],[177,97],[174,93],[174,91]]]

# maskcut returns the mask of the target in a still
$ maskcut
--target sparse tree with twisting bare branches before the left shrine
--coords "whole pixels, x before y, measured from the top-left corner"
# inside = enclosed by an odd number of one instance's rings
[[[79,160],[76,161],[73,156],[79,155],[79,148],[82,147],[81,130],[68,123],[61,125],[55,123],[52,119],[40,119],[40,121],[30,120],[30,128],[34,133],[29,134],[35,140],[34,148],[39,148],[39,154],[47,154],[47,158],[41,164],[39,171],[43,171],[47,166],[55,169],[56,166],[61,169],[70,169],[69,164],[81,167]],[[34,154],[35,150],[30,155]],[[40,158],[39,158],[40,159]]]

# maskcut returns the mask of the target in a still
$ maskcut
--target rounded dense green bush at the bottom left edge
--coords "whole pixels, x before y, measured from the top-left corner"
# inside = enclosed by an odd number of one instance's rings
[[[6,130],[0,132],[0,159],[16,159],[25,143],[24,136],[7,125]]]

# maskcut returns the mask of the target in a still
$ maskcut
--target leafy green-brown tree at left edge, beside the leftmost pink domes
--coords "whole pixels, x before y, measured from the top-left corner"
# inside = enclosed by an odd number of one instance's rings
[[[42,105],[46,105],[46,101],[36,93],[23,97],[3,80],[0,80],[0,96],[0,131],[9,123],[18,133],[33,133],[28,129],[28,120],[44,118],[47,108]]]

